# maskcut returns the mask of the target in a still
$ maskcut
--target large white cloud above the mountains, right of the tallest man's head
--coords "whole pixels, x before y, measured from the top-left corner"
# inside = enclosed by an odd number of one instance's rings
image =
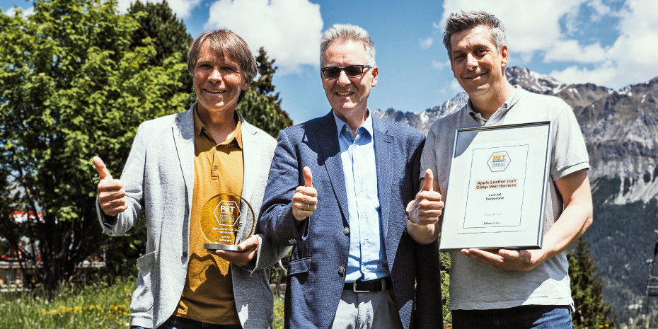
[[[566,83],[591,82],[601,86],[621,88],[630,83],[647,81],[658,75],[654,65],[654,50],[658,45],[658,1],[624,0],[621,11],[613,12],[607,5],[610,0],[537,0],[537,1],[486,1],[446,0],[441,30],[450,13],[484,10],[495,14],[507,28],[509,52],[512,58],[531,62],[540,56],[543,62],[562,62],[574,65],[554,70],[550,75]],[[602,30],[589,24],[583,33],[587,40],[616,30],[618,38],[612,45],[601,42],[584,44],[571,35],[578,35],[584,23],[578,13],[589,6],[595,13],[592,22],[613,16],[618,25]],[[560,24],[562,23],[562,24]],[[562,28],[563,27],[563,28]],[[605,35],[607,37],[608,35]]]

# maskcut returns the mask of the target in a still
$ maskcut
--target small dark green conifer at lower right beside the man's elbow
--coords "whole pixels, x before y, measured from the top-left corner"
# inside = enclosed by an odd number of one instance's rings
[[[596,273],[596,262],[591,258],[587,243],[581,238],[576,248],[567,253],[571,294],[576,311],[574,328],[599,328],[599,325],[612,325],[611,306],[603,299],[604,284],[601,275]]]

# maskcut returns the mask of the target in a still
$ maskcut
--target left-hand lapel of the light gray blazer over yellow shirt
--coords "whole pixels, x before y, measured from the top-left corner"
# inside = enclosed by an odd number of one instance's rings
[[[172,127],[190,209],[192,209],[192,193],[194,192],[194,108],[195,105],[192,105],[189,110],[178,113],[175,126]]]

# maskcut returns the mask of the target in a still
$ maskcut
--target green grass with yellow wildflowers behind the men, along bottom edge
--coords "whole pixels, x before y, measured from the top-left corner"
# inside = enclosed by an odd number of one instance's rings
[[[38,292],[0,293],[0,328],[129,328],[133,284],[134,278],[124,278],[117,279],[112,285],[100,283],[62,287],[50,298]],[[649,326],[649,323],[652,325]],[[275,298],[274,328],[283,328],[281,298]],[[616,327],[605,325],[601,328],[657,327],[654,321],[637,316]]]

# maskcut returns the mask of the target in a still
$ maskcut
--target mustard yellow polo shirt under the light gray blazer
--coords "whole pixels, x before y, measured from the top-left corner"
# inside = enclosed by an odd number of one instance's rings
[[[241,195],[244,180],[242,131],[238,125],[233,138],[215,143],[206,131],[195,108],[194,193],[190,216],[190,262],[187,280],[180,297],[177,316],[215,324],[240,324],[233,296],[230,263],[203,248],[206,241],[201,231],[202,209],[220,193]],[[240,204],[239,197],[237,203]],[[207,214],[206,214],[207,217]]]

